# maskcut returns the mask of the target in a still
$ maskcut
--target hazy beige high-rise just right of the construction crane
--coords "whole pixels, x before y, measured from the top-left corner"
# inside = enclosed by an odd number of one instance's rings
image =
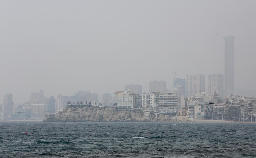
[[[198,92],[205,91],[205,76],[204,75],[190,75],[187,76],[187,85],[188,85],[188,95],[187,97],[191,97]]]

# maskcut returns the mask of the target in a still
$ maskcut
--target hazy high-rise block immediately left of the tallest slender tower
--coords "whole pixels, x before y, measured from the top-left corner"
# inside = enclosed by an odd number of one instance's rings
[[[224,87],[223,87],[223,75],[222,74],[211,74],[208,75],[208,94],[212,95],[217,93],[217,95],[224,97]]]

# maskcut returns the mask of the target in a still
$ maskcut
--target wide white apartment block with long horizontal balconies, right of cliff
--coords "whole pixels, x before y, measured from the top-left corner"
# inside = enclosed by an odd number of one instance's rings
[[[178,96],[174,92],[159,93],[159,113],[175,116],[178,112]]]

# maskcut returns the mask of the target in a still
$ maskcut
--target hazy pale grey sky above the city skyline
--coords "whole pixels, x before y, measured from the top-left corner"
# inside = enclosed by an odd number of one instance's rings
[[[175,70],[224,74],[233,35],[234,86],[256,95],[256,1],[0,1],[0,103],[78,90],[111,93]]]

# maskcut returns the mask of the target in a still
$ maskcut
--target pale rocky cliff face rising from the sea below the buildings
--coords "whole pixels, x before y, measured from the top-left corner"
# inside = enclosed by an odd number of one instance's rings
[[[44,122],[174,122],[176,117],[145,117],[140,109],[118,110],[110,107],[68,105],[56,114],[47,114]]]

